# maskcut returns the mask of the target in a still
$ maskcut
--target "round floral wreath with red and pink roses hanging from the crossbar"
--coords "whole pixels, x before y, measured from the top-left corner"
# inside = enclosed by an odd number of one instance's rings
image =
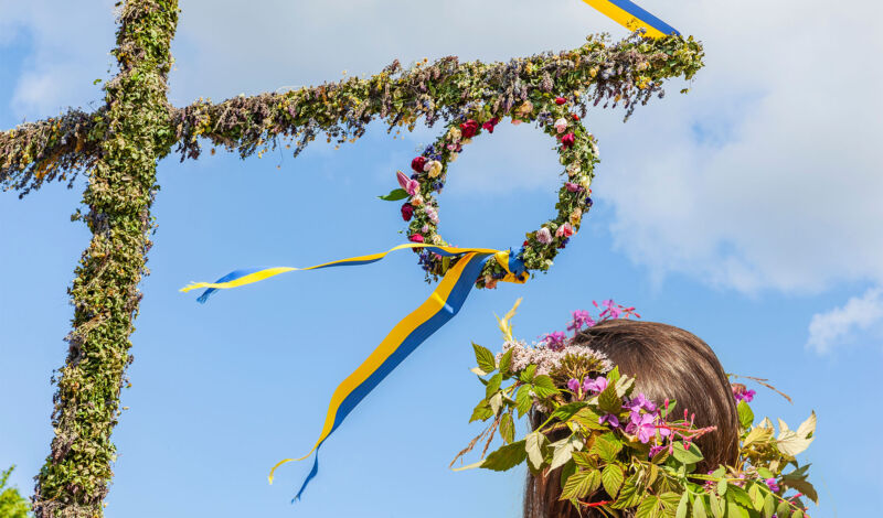
[[[526,234],[519,251],[510,256],[510,270],[522,280],[529,270],[549,270],[558,250],[579,229],[583,216],[592,207],[591,184],[595,163],[598,162],[595,137],[579,122],[579,115],[571,111],[567,98],[542,94],[534,100],[536,104],[525,99],[508,117],[513,125],[535,121],[545,133],[556,139],[560,162],[565,168],[565,181],[555,205],[556,217]],[[467,107],[466,114],[448,123],[447,131],[411,161],[409,176],[402,171],[396,173],[401,188],[381,196],[387,201],[407,198],[401,211],[403,219],[409,222],[408,239],[413,242],[448,245],[438,234],[438,202],[434,193],[440,193],[444,188],[449,163],[457,159],[464,145],[485,131],[493,133],[493,128],[500,122],[500,117],[487,105]],[[428,250],[414,251],[419,256],[419,265],[426,271],[427,280],[444,276],[457,260]],[[499,263],[488,261],[476,285],[494,288],[506,274],[507,271]]]

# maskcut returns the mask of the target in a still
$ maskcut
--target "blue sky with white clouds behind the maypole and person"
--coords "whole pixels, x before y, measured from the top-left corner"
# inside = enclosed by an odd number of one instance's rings
[[[469,343],[498,348],[493,313],[519,296],[515,334],[528,339],[607,298],[695,333],[728,371],[770,378],[795,398],[757,388],[756,413],[790,424],[817,411],[817,440],[801,455],[821,497],[815,516],[879,509],[883,478],[868,461],[883,458],[872,432],[883,418],[862,401],[875,400],[883,374],[873,148],[883,131],[871,95],[883,82],[855,48],[883,50],[873,17],[817,3],[792,14],[797,2],[785,1],[757,20],[756,1],[648,1],[706,43],[708,68],[626,125],[621,112],[589,115],[603,162],[579,235],[547,274],[472,293],[327,442],[319,477],[294,507],[309,466],[283,467],[273,486],[268,468],[309,450],[333,388],[430,287],[401,253],[289,273],[204,306],[178,289],[401,242],[397,204],[375,195],[438,129],[394,140],[372,126],[355,144],[317,144],[297,160],[166,159],[107,516],[519,516],[523,471],[447,468],[477,433],[467,424],[481,393]],[[623,34],[576,0],[243,6],[181,2],[173,102],[376,72],[393,57],[503,60],[575,47],[589,32]],[[107,77],[111,7],[0,0],[0,127],[99,98],[92,80]],[[820,74],[822,62],[841,72]],[[690,95],[678,95],[684,86]],[[551,215],[555,154],[525,125],[481,140],[453,165],[442,229],[462,246],[517,247]],[[88,242],[70,222],[83,185],[0,196],[0,467],[18,464],[12,482],[25,492],[49,451],[49,379],[72,315],[64,288]]]

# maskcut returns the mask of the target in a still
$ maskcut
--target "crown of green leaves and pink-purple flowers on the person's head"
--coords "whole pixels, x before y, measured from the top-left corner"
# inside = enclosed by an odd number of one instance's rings
[[[482,458],[457,471],[507,471],[526,462],[532,474],[547,476],[562,467],[560,499],[581,510],[594,507],[605,516],[802,518],[808,516],[802,498],[818,503],[807,481],[809,465],[795,458],[813,440],[815,412],[797,430],[779,419],[775,435],[769,419],[754,424],[748,402],[755,391],[733,384],[738,460],[733,466],[698,473],[704,457],[695,441],[714,427],[696,427],[689,409],[675,411],[677,401],[651,401],[635,393],[635,378],[574,339],[598,322],[639,317],[634,307],[614,301],[594,303],[603,307],[597,320],[587,311],[575,311],[567,325],[572,335],[550,333],[528,345],[512,337],[510,321],[520,302],[497,319],[504,339],[501,353],[472,344],[478,361],[472,371],[485,386],[485,397],[469,422],[489,424],[451,466],[485,441]],[[765,379],[748,379],[776,390]],[[531,410],[544,421],[515,440],[515,419]],[[485,456],[498,432],[503,444]],[[554,432],[563,439],[552,442]],[[789,466],[794,467],[786,473]]]

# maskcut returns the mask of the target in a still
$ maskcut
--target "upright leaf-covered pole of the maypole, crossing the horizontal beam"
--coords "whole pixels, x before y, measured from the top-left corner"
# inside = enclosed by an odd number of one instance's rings
[[[147,272],[150,205],[157,160],[169,152],[169,46],[177,0],[131,0],[121,7],[114,55],[119,74],[105,86],[106,106],[93,128],[100,148],[83,196],[93,233],[70,290],[70,349],[57,378],[52,452],[38,476],[38,518],[102,516],[113,475],[110,433],[130,363],[129,335]]]

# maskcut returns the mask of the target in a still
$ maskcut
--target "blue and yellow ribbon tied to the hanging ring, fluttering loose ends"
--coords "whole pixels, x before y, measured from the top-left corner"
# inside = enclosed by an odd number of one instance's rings
[[[383,259],[387,253],[402,249],[424,248],[442,256],[462,256],[444,276],[442,282],[433,291],[426,301],[409,315],[398,322],[390,331],[385,338],[374,349],[373,353],[341,382],[328,406],[325,425],[319,434],[319,439],[306,455],[300,458],[286,458],[280,461],[269,472],[269,482],[273,483],[273,475],[276,468],[285,463],[302,461],[316,452],[316,458],[307,478],[295,496],[294,500],[300,498],[307,484],[319,472],[319,447],[334,430],[340,427],[349,413],[368,396],[377,384],[383,380],[392,370],[398,366],[414,349],[426,341],[433,333],[445,325],[462,307],[467,295],[475,285],[476,279],[481,273],[485,262],[493,257],[507,271],[507,276],[501,279],[503,282],[523,283],[526,281],[526,271],[520,260],[511,257],[509,250],[494,250],[490,248],[458,248],[440,247],[435,245],[407,244],[394,247],[385,252],[371,253],[368,256],[352,257],[337,261],[325,262],[308,268],[278,267],[266,269],[236,270],[215,282],[191,283],[181,291],[205,288],[205,292],[200,295],[199,301],[205,302],[212,293],[217,290],[236,288],[244,284],[258,282],[270,277],[278,276],[288,271],[296,270],[317,270],[320,268],[331,268],[339,266],[368,265]],[[292,501],[294,501],[292,500]]]

